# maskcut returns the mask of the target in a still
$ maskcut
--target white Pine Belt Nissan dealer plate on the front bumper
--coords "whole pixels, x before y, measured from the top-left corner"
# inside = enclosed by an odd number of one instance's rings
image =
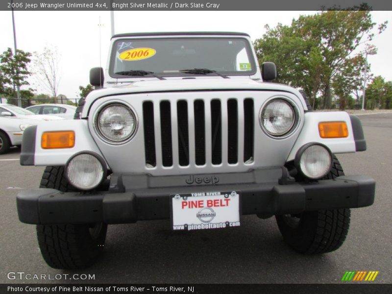
[[[240,226],[240,192],[172,194],[172,229],[203,230]]]

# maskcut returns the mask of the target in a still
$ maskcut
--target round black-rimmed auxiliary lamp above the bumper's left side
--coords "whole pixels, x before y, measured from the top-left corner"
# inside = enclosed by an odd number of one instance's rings
[[[66,165],[70,183],[81,190],[97,187],[106,177],[106,165],[103,159],[88,153],[80,153],[69,160]]]

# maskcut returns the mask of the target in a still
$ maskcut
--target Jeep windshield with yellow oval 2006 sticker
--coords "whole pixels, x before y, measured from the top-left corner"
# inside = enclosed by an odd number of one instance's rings
[[[204,71],[189,71],[194,69]],[[129,71],[134,72],[126,73]],[[240,37],[118,40],[112,50],[110,75],[130,77],[141,71],[160,76],[251,75],[256,66],[249,42]]]

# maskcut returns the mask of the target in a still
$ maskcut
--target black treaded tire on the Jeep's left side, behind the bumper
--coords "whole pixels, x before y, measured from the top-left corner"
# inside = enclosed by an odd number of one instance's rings
[[[77,191],[67,180],[64,167],[46,167],[40,188]],[[38,245],[46,263],[54,269],[91,266],[103,251],[107,224],[37,225]]]

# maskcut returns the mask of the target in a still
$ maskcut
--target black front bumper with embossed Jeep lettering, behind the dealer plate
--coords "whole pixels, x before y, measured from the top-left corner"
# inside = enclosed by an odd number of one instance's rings
[[[197,179],[189,175],[113,175],[110,189],[105,192],[21,191],[17,196],[18,214],[20,221],[32,224],[169,219],[172,194],[233,190],[241,192],[243,215],[356,208],[374,202],[375,181],[367,176],[295,183],[288,181],[286,175],[284,168],[197,175]]]

